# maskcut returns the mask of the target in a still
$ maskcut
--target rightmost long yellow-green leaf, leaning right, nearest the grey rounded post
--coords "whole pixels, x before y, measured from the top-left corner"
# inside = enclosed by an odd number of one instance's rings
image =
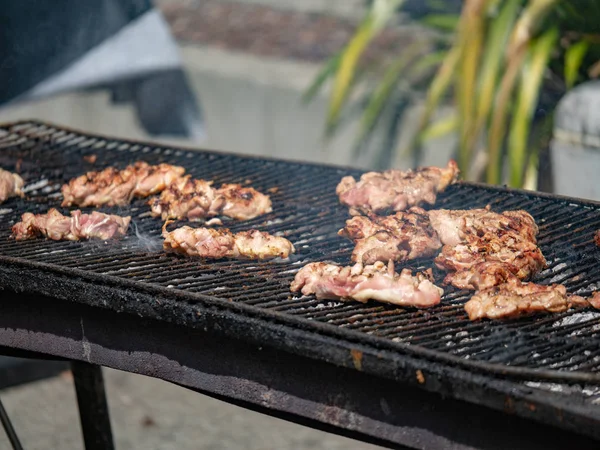
[[[530,43],[527,60],[522,67],[519,92],[508,138],[509,183],[512,187],[522,187],[523,185],[528,165],[527,142],[531,120],[548,61],[557,40],[558,29],[556,27],[542,33],[539,38]]]

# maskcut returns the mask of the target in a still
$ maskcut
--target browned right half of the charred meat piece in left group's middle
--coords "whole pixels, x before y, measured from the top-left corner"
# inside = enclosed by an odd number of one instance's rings
[[[221,214],[232,219],[250,220],[273,211],[268,195],[239,184],[224,184],[218,197],[223,201]]]

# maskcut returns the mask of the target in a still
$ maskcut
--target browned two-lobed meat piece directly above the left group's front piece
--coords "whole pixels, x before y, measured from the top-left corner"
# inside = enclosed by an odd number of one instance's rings
[[[163,220],[195,221],[219,214],[249,220],[272,211],[269,196],[254,188],[224,184],[215,189],[212,181],[193,180],[189,175],[176,180],[149,204],[152,215]]]

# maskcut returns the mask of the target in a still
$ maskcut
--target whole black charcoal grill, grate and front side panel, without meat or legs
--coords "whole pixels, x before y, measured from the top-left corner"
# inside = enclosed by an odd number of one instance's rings
[[[95,165],[83,159],[92,153]],[[154,248],[161,224],[142,201],[126,210],[136,231],[122,242],[8,238],[22,212],[60,204],[64,181],[138,159],[180,164],[216,184],[249,181],[270,190],[273,213],[226,225],[281,233],[297,254],[273,262],[162,254]],[[6,353],[142,373],[392,447],[598,446],[596,312],[471,323],[462,309],[468,293],[451,289],[428,311],[289,293],[307,262],[349,261],[351,243],[336,234],[347,211],[335,185],[359,171],[155,147],[39,123],[0,126],[0,164],[19,165],[34,186],[28,199],[0,211]],[[538,281],[563,282],[580,294],[596,288],[597,204],[460,184],[436,206],[487,204],[524,208],[536,218],[549,261]]]

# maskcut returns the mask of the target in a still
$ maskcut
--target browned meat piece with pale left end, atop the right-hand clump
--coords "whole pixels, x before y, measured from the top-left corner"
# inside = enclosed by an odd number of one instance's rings
[[[437,209],[429,211],[431,226],[444,245],[458,245],[468,236],[513,231],[523,239],[536,242],[538,227],[522,210],[496,213],[488,208],[470,210]]]

